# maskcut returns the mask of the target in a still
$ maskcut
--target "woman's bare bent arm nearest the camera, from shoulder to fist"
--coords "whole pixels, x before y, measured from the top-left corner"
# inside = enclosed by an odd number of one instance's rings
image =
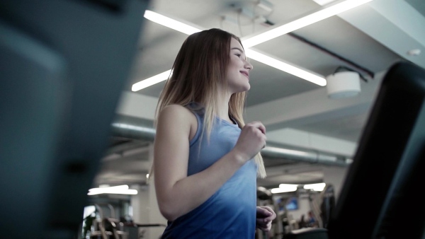
[[[154,182],[159,210],[169,221],[210,198],[266,143],[260,122],[246,124],[232,151],[209,168],[188,177],[189,135],[195,122],[196,117],[180,105],[169,105],[159,113],[154,141]]]

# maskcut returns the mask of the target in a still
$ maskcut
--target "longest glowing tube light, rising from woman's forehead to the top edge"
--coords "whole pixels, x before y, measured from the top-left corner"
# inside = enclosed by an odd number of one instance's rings
[[[351,8],[355,8],[356,6],[360,6],[361,4],[365,4],[369,1],[372,0],[342,1],[338,4],[328,6],[327,8],[323,8],[322,10],[316,11],[302,18],[298,18],[297,20],[291,21],[290,23],[280,25],[279,27],[268,30],[265,33],[261,33],[259,35],[255,35],[254,37],[250,37],[249,39],[243,40],[242,44],[246,48],[254,47],[255,45],[259,45],[260,43],[272,40],[273,38],[280,37],[281,35],[285,35],[286,33],[290,33],[294,30],[304,28],[307,25],[317,23],[318,21],[335,16],[336,14],[342,13]]]

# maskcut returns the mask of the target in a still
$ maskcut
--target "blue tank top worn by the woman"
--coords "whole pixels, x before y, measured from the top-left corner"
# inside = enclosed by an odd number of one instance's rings
[[[229,153],[236,145],[241,129],[237,124],[215,118],[210,141],[204,134],[203,111],[192,111],[198,130],[190,141],[188,175],[199,173]],[[256,164],[245,163],[207,201],[174,221],[169,221],[162,238],[255,238]]]

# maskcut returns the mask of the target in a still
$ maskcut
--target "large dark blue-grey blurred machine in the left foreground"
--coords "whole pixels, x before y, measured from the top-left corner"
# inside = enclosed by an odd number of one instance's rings
[[[146,0],[0,1],[2,238],[74,238]]]

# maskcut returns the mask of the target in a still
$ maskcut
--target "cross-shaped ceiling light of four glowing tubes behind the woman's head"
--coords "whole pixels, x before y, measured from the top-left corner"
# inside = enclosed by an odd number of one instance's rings
[[[347,11],[351,8],[360,6],[361,4],[365,4],[369,1],[372,1],[372,0],[346,0],[341,3],[334,4],[327,8],[323,8],[322,10],[314,12],[310,15],[304,16],[302,18],[298,18],[297,20],[287,23],[285,25],[281,25],[278,28],[268,30],[265,33],[261,33],[260,35],[256,35],[248,39],[244,39],[242,40],[242,45],[244,45],[244,47],[248,50],[249,47],[253,47],[254,45],[258,45],[262,42],[266,42],[280,35],[289,33],[290,31],[305,27],[306,25],[316,23],[317,21],[321,21],[325,18],[329,18],[330,16],[334,16],[336,14],[342,13],[343,11]],[[164,25],[168,28],[177,30],[187,35],[200,32],[199,28],[195,28],[191,25],[182,23],[181,21],[176,21],[172,18],[163,16],[153,11],[149,11],[149,10],[145,11],[144,16],[149,21],[153,21],[154,23]],[[249,52],[250,52],[249,53],[250,55],[248,57],[251,57],[252,59],[258,62],[267,64],[268,66],[273,66],[276,69],[280,69],[281,71],[288,72],[289,74],[293,74],[297,77],[303,78],[312,83],[317,83],[319,86],[326,86],[327,84],[326,80],[322,76],[312,74],[312,72],[305,71],[304,69],[300,69],[297,66],[280,62],[277,59],[274,59],[273,57],[265,56],[259,52],[254,51],[253,49],[249,49]],[[248,51],[246,52],[246,54],[248,55]],[[171,70],[164,71],[161,74],[157,74],[145,80],[139,81],[132,85],[132,91],[140,91],[143,88],[147,88],[161,81],[165,81],[170,74],[171,74]]]

